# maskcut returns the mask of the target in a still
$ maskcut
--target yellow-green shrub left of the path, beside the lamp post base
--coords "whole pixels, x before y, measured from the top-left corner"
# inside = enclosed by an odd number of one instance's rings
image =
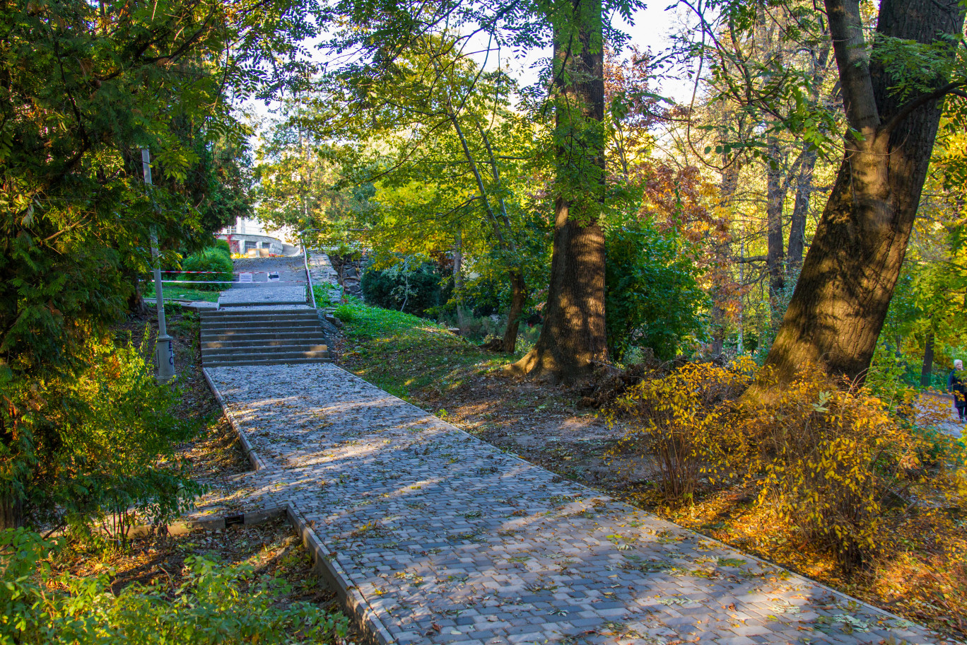
[[[174,445],[196,428],[172,414],[178,393],[156,381],[149,344],[90,339],[79,373],[7,384],[0,494],[36,520],[100,524],[121,539],[135,516],[164,522],[185,510],[202,487]]]

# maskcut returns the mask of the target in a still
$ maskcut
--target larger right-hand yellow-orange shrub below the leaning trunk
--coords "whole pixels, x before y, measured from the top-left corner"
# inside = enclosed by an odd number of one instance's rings
[[[923,463],[938,446],[947,454],[949,438],[895,416],[897,406],[868,389],[815,366],[773,389],[770,405],[744,415],[744,434],[758,446],[749,474],[759,502],[829,548],[844,569],[883,552],[913,502],[950,489],[943,459]]]

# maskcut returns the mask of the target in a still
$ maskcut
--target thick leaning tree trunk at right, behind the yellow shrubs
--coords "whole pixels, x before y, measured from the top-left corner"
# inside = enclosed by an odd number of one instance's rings
[[[938,91],[901,103],[866,59],[858,0],[826,0],[847,122],[844,158],[767,364],[782,380],[806,363],[862,379],[890,306],[940,122]],[[883,0],[877,33],[959,36],[955,0]],[[950,89],[950,88],[943,88]]]

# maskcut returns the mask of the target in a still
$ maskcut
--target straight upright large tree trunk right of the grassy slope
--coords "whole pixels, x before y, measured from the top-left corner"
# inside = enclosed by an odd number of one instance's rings
[[[555,15],[557,178],[541,337],[514,368],[571,381],[607,359],[604,330],[604,78],[601,0]]]

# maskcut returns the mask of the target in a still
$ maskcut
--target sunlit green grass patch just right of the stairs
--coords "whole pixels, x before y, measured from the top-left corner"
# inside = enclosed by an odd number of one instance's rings
[[[404,399],[421,390],[452,390],[468,374],[499,369],[515,358],[484,351],[431,320],[354,298],[335,314],[345,324],[341,362]]]

